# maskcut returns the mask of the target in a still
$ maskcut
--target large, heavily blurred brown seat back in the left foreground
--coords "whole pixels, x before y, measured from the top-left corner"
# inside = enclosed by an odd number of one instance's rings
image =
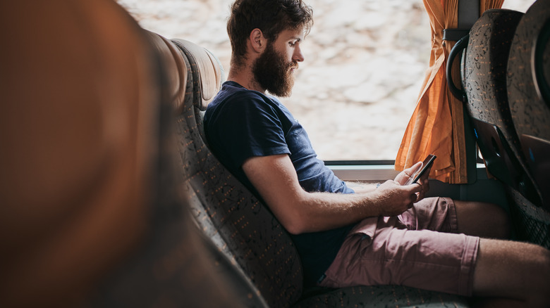
[[[69,304],[147,226],[151,54],[112,1],[0,12],[0,305]]]

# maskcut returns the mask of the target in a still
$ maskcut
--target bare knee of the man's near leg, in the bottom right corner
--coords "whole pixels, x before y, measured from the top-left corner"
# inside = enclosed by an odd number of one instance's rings
[[[479,240],[473,294],[486,307],[550,307],[550,250],[508,240]]]

